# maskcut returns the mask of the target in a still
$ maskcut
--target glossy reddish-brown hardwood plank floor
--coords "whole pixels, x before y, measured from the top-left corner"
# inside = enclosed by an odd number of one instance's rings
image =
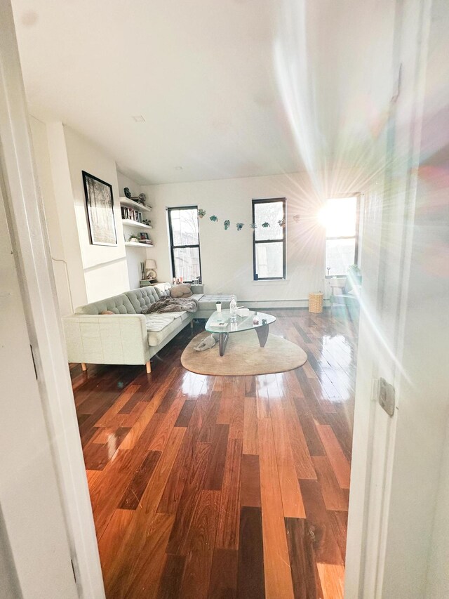
[[[71,366],[107,598],[342,597],[356,324],[271,312],[300,369],[192,374],[189,327],[152,374]]]

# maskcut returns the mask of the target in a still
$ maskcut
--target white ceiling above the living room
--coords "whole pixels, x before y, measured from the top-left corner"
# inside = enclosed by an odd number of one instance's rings
[[[302,170],[366,118],[373,2],[13,0],[29,110],[141,184]]]

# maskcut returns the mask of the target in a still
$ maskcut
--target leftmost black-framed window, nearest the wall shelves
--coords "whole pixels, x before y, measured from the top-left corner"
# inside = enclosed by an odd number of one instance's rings
[[[173,277],[192,282],[201,277],[198,206],[168,208]]]

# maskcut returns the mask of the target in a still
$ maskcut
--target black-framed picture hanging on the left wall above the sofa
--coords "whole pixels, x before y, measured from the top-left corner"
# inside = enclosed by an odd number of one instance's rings
[[[112,186],[83,171],[91,244],[117,245]]]

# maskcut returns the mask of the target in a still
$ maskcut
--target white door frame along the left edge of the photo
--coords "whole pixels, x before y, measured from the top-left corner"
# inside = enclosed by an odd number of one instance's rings
[[[5,203],[80,597],[105,597],[62,336],[10,0],[0,0],[0,141]],[[32,498],[30,498],[32,500]]]

